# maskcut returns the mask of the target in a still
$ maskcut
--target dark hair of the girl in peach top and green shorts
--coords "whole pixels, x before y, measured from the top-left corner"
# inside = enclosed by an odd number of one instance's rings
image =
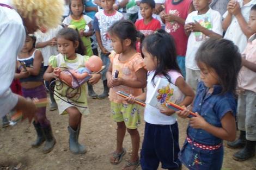
[[[130,20],[119,20],[112,24],[112,26],[107,30],[108,34],[116,35],[123,45],[125,39],[131,40],[131,45],[136,48],[137,37],[144,39],[144,35],[136,30],[135,24]]]

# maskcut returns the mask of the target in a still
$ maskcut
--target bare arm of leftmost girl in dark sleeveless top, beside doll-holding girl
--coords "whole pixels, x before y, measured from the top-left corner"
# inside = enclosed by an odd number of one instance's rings
[[[42,58],[41,51],[37,50],[35,52],[34,56],[34,62],[33,62],[33,68],[27,67],[27,70],[31,73],[31,75],[38,75],[41,69],[42,61],[44,61],[44,58]]]

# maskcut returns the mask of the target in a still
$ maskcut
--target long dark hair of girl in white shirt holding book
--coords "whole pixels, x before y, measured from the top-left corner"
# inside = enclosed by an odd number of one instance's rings
[[[156,70],[152,79],[153,85],[155,85],[154,78],[156,75],[164,75],[171,83],[168,71],[174,70],[181,73],[176,59],[174,37],[163,29],[157,29],[154,34],[145,37],[141,47],[157,59]],[[144,57],[143,53],[142,56]]]

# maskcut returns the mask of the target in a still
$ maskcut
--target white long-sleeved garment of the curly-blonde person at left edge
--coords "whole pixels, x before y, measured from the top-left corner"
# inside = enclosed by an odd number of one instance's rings
[[[18,98],[11,92],[16,58],[25,43],[25,28],[20,15],[7,7],[0,7],[0,117],[16,106]]]

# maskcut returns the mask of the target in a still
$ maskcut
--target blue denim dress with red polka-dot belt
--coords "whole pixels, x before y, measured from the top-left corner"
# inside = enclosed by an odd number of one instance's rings
[[[219,95],[222,86],[214,86],[214,91],[207,94],[209,88],[203,81],[198,83],[197,89],[193,112],[198,112],[216,127],[222,127],[221,119],[227,112],[231,111],[235,117],[236,100],[233,92]],[[194,129],[188,124],[187,138],[179,152],[179,159],[189,169],[221,169],[224,155],[222,141],[221,138],[205,130]]]

